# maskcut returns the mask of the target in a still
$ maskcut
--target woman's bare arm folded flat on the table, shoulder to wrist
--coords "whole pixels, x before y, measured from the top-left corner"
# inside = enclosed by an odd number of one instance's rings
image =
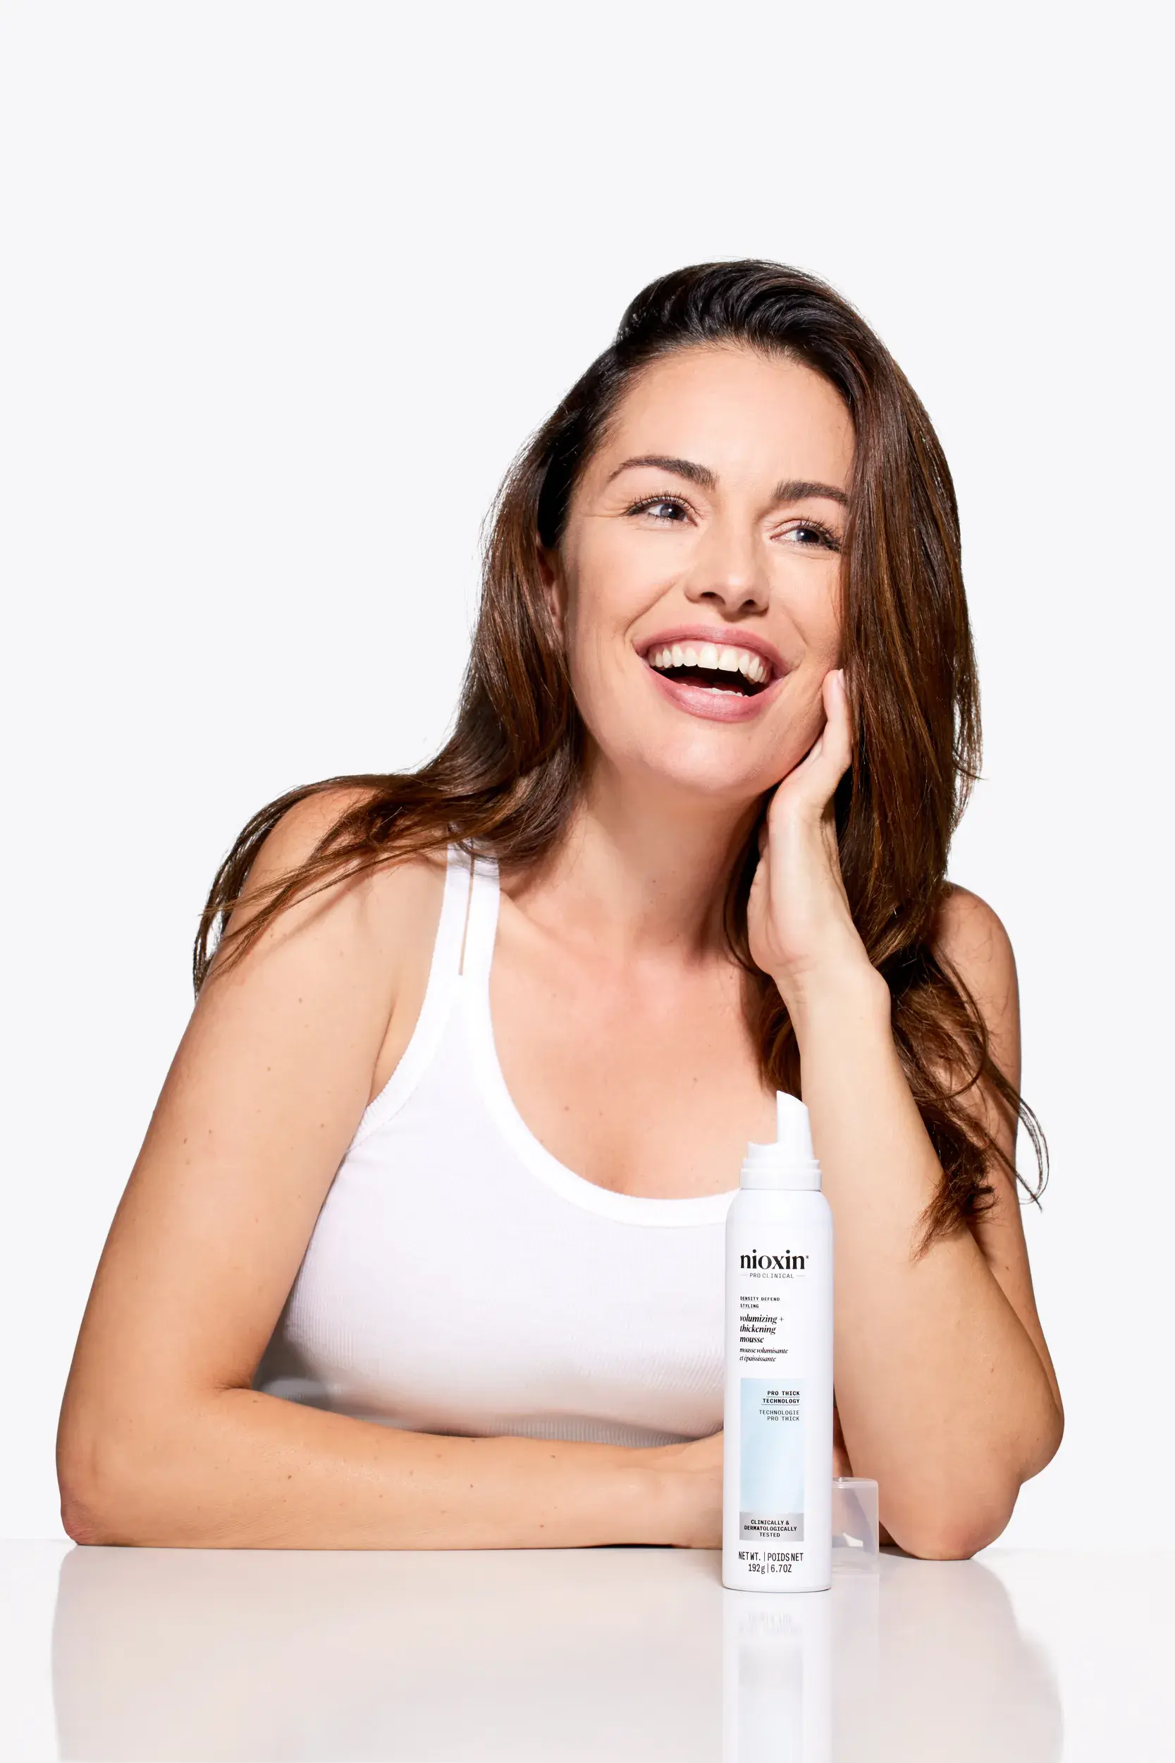
[[[312,799],[287,815],[252,880],[307,855],[338,809],[338,800]],[[657,1451],[409,1433],[250,1387],[381,1049],[396,1038],[405,945],[432,940],[439,887],[425,860],[336,885],[284,913],[240,968],[213,968],[115,1216],[74,1354],[58,1474],[76,1541],[520,1548],[712,1539],[717,1465],[685,1477],[684,1493]]]

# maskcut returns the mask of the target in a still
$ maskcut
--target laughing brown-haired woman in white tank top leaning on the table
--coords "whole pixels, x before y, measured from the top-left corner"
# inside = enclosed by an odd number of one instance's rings
[[[440,755],[284,797],[217,876],[65,1393],[69,1534],[717,1548],[722,1220],[787,1088],[839,1467],[905,1550],[990,1543],[1062,1416],[1013,954],[944,880],[978,739],[897,365],[794,270],[654,282],[504,485]]]

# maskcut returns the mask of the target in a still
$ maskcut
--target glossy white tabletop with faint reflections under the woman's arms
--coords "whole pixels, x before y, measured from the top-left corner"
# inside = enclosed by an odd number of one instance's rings
[[[0,1758],[1171,1763],[1175,1555],[0,1543]]]

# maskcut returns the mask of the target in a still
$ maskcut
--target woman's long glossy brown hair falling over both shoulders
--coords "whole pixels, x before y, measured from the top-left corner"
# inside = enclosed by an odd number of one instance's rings
[[[1025,1123],[1039,1195],[1046,1146],[1036,1116],[995,1065],[974,998],[932,948],[951,834],[979,776],[979,695],[964,596],[958,510],[946,458],[905,376],[853,307],[777,263],[705,263],[652,282],[511,465],[488,527],[483,598],[456,725],[416,772],[329,777],[291,790],[248,822],[220,866],[196,940],[203,984],[234,963],[294,899],[345,874],[449,841],[504,864],[541,859],[567,827],[583,776],[583,723],[537,571],[537,543],[560,541],[578,478],[634,376],[673,349],[742,344],[823,374],[856,432],[842,559],[842,643],[856,726],[837,788],[840,869],[853,922],[891,994],[893,1038],[942,1183],[923,1248],[990,1204],[992,1160],[1009,1160],[965,1107],[987,1084]],[[254,894],[225,931],[254,859],[296,802],[359,790],[310,859]],[[743,968],[743,1007],[768,1086],[800,1093],[787,1008],[750,961],[747,896],[766,797],[726,894],[726,936]],[[1025,1183],[1027,1186],[1027,1183]]]

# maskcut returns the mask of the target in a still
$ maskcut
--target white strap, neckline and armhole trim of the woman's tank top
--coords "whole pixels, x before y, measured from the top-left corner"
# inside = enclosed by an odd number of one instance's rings
[[[536,1179],[573,1206],[624,1224],[669,1227],[722,1224],[736,1188],[671,1199],[617,1194],[576,1174],[527,1127],[502,1074],[490,1010],[490,968],[499,904],[497,860],[483,853],[470,859],[469,852],[449,844],[440,922],[416,1031],[391,1079],[366,1109],[356,1141],[366,1137],[402,1100],[407,1100],[407,1093],[440,1042],[449,1014],[456,1010],[463,1017],[479,1097],[504,1142]],[[400,1084],[396,1079],[405,1067],[405,1081]],[[370,1127],[368,1116],[372,1116]]]

